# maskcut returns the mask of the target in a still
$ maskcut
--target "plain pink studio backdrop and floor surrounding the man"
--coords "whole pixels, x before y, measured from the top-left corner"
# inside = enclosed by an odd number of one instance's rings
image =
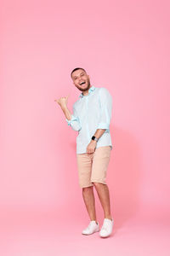
[[[1,2],[2,255],[169,255],[168,1]],[[107,174],[114,234],[82,236],[76,137],[55,98],[70,73],[113,97]],[[104,214],[97,193],[100,226]],[[66,245],[65,245],[66,244]]]

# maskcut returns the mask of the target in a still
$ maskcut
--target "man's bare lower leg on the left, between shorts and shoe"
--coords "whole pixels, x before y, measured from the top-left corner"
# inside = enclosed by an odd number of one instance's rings
[[[90,220],[96,220],[94,186],[82,188],[82,197],[86,205]]]

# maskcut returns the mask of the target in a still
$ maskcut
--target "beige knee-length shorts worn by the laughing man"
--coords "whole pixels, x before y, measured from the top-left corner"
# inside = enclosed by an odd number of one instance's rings
[[[81,188],[106,184],[106,172],[111,158],[111,146],[95,148],[93,154],[77,154],[79,185]]]

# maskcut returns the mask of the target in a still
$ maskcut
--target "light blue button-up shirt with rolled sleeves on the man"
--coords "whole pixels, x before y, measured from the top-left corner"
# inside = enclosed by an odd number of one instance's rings
[[[71,120],[66,119],[68,125],[77,135],[77,154],[87,153],[87,147],[97,129],[105,129],[104,134],[99,137],[96,148],[111,146],[111,110],[112,97],[105,87],[90,87],[88,95],[79,96],[73,104]]]

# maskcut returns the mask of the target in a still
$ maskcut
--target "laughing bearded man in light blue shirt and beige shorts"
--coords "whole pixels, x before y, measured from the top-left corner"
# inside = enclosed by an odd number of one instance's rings
[[[94,187],[104,210],[105,218],[99,236],[111,235],[114,220],[111,216],[110,195],[106,184],[106,171],[111,157],[111,122],[112,97],[104,87],[90,84],[89,75],[82,67],[71,72],[73,84],[82,93],[73,105],[73,114],[67,108],[68,96],[61,97],[59,103],[68,125],[77,136],[77,166],[79,185],[88,211],[90,223],[83,235],[99,231],[96,219]]]

